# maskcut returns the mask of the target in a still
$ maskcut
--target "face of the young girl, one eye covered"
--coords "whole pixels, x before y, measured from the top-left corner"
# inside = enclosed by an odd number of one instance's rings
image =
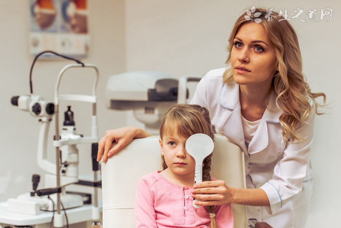
[[[189,178],[194,179],[195,160],[186,151],[186,141],[186,137],[170,133],[164,134],[162,139],[159,139],[161,154],[173,177],[188,175]]]

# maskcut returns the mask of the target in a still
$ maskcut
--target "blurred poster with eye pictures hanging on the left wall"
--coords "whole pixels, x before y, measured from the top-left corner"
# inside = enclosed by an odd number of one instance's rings
[[[30,0],[30,27],[32,55],[49,50],[72,57],[87,56],[87,0]]]

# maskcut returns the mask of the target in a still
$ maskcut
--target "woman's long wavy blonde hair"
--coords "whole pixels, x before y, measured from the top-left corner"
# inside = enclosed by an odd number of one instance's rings
[[[261,15],[254,17],[257,12],[261,13]],[[283,111],[283,114],[280,116],[280,123],[283,128],[282,136],[285,140],[290,141],[295,139],[303,140],[295,133],[295,130],[304,123],[306,117],[310,114],[312,107],[310,100],[315,106],[314,111],[316,114],[322,114],[318,111],[318,107],[323,107],[324,105],[319,104],[316,98],[322,96],[323,104],[325,104],[326,96],[324,93],[312,93],[309,85],[306,83],[302,73],[300,45],[294,28],[287,20],[279,16],[277,12],[272,11],[274,15],[272,18],[265,18],[267,13],[267,10],[264,8],[256,8],[250,19],[247,18],[246,13],[237,19],[228,38],[227,51],[229,54],[226,63],[229,64],[231,62],[231,50],[234,45],[233,39],[241,26],[246,23],[256,23],[255,19],[261,19],[260,24],[265,28],[277,58],[278,71],[276,71],[272,80],[272,90],[277,94],[277,107]],[[233,81],[231,69],[227,68],[223,75],[223,81],[225,83]]]

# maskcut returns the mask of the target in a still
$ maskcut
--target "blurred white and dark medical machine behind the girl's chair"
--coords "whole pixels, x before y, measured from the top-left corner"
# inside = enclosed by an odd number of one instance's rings
[[[175,103],[186,104],[187,83],[202,76],[186,75],[179,79],[154,71],[127,72],[110,76],[106,86],[107,108],[133,110],[134,117],[158,134],[163,115]]]

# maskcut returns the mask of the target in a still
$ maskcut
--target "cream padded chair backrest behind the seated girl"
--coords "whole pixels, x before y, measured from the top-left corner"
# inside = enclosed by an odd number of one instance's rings
[[[244,154],[224,135],[216,134],[211,175],[230,187],[245,188]],[[161,170],[158,136],[134,139],[102,164],[103,228],[135,228],[133,211],[138,180]],[[246,228],[246,207],[232,205],[235,228]]]

